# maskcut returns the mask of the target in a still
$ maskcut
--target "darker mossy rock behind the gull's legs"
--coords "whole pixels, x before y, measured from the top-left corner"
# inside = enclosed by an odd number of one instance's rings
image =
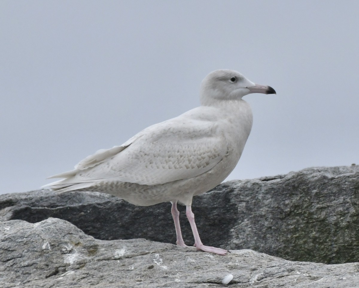
[[[175,243],[171,204],[139,207],[94,192],[48,190],[0,195],[0,221],[67,220],[101,240]],[[359,166],[308,168],[285,175],[230,181],[194,198],[205,245],[252,249],[287,260],[359,261]],[[193,236],[181,211],[183,237]]]

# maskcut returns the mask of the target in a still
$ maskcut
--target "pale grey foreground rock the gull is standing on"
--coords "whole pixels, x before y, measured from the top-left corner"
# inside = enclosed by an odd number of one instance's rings
[[[67,221],[0,222],[0,287],[357,287],[359,263],[220,256],[144,239],[104,241]]]

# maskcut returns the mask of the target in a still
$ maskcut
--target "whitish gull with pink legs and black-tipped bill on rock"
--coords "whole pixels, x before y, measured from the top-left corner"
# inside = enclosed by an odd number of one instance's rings
[[[177,210],[177,202],[183,203],[196,249],[225,255],[227,250],[202,244],[191,204],[236,167],[252,128],[251,107],[242,99],[250,93],[276,92],[237,71],[213,71],[201,83],[201,106],[98,150],[43,187],[108,193],[138,206],[169,201],[179,246],[186,246]]]

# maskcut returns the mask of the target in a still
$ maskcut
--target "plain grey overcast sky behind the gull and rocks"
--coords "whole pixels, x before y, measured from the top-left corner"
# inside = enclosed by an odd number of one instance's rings
[[[234,69],[253,129],[228,179],[359,163],[358,1],[0,1],[0,193],[199,106]]]

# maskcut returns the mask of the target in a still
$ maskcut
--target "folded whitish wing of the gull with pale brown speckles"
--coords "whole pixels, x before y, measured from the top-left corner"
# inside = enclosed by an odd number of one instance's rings
[[[225,138],[213,121],[177,117],[144,129],[121,146],[98,150],[75,170],[53,176],[66,179],[47,187],[69,191],[103,180],[163,184],[205,173],[226,153]]]

